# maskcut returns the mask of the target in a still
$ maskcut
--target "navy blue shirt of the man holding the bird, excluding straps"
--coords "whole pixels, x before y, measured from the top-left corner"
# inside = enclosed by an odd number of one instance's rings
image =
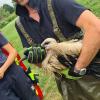
[[[35,43],[41,43],[48,37],[57,39],[53,32],[52,21],[47,7],[47,0],[29,0],[29,6],[38,9],[40,23],[31,19],[27,9],[23,6],[17,5],[16,14],[20,16],[21,23]],[[80,31],[80,29],[76,26],[76,21],[82,12],[86,10],[85,7],[77,4],[74,0],[52,0],[52,6],[58,26],[66,38]],[[23,46],[27,47],[28,43],[17,25],[16,28],[19,36],[21,37]]]

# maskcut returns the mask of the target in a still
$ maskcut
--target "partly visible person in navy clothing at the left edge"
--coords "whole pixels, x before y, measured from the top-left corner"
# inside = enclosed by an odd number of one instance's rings
[[[3,53],[5,49],[8,57]],[[39,100],[30,79],[14,62],[16,50],[0,33],[0,100]]]

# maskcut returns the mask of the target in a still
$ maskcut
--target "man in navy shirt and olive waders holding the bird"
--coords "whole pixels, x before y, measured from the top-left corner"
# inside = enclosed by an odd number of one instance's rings
[[[83,78],[70,80],[58,76],[56,81],[64,100],[99,100],[100,80],[84,75],[87,66],[100,50],[100,20],[74,0],[14,1],[19,16],[16,29],[23,47],[29,47],[33,42],[41,44],[46,38],[66,41],[84,35],[81,53],[72,71],[72,76],[83,73]]]

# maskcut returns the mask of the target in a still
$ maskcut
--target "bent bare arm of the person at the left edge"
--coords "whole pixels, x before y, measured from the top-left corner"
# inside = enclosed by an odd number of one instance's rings
[[[6,45],[3,46],[3,48],[5,50],[8,51],[9,56],[6,60],[6,62],[2,65],[2,67],[0,68],[0,70],[2,70],[2,72],[5,73],[5,71],[10,67],[10,65],[14,62],[15,57],[17,55],[16,50],[9,44],[7,43]]]

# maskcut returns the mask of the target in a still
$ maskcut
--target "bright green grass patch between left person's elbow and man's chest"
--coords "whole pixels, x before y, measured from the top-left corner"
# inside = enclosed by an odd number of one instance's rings
[[[22,44],[15,29],[15,20],[11,21],[1,31],[4,33],[5,37],[11,42],[11,44],[20,53],[22,51]]]

